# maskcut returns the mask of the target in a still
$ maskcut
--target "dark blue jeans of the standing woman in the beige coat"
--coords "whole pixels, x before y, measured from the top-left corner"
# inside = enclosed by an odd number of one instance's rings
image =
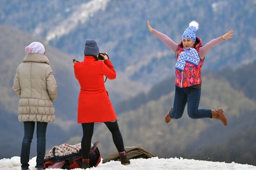
[[[33,139],[35,122],[24,122],[24,138],[22,141],[20,163],[22,169],[28,169],[30,144]],[[37,122],[36,137],[37,137],[37,157],[36,168],[44,167],[45,145],[46,145],[46,122]]]

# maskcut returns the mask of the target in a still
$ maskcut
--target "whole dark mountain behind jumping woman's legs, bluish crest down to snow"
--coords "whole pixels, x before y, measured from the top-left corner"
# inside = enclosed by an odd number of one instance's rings
[[[159,157],[255,165],[256,148],[251,143],[256,129],[256,98],[252,89],[256,79],[246,76],[255,67],[256,60],[236,70],[203,72],[200,108],[223,108],[227,127],[214,119],[190,119],[186,109],[181,119],[165,124],[165,113],[173,104],[174,77],[154,85],[147,93],[122,101],[115,110],[121,114],[118,117],[125,144],[142,145]],[[115,150],[104,125],[96,129],[94,140],[100,140],[103,148],[108,148],[107,153]]]

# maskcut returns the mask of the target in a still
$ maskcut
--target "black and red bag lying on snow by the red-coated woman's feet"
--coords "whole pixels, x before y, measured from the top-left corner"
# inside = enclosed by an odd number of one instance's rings
[[[99,142],[95,142],[94,146],[90,148],[90,167],[96,167],[101,162],[101,154],[97,147]],[[56,147],[61,147],[56,146]],[[80,149],[77,153],[72,153],[63,156],[55,156],[56,147],[52,149],[53,157],[47,157],[44,159],[44,169],[48,168],[49,166],[53,166],[54,163],[59,166],[55,168],[62,168],[67,170],[72,170],[75,168],[81,168],[82,165],[82,150]]]

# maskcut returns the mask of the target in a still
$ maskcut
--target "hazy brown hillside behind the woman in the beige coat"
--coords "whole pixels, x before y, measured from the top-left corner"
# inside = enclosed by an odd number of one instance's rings
[[[26,55],[25,47],[33,41],[43,42],[10,26],[0,26],[0,103],[5,107],[6,111],[17,112],[18,97],[12,90],[13,78],[17,66]],[[58,83],[59,93],[54,103],[56,114],[69,112],[70,115],[65,114],[65,116],[70,118],[72,117],[71,113],[75,112],[76,97],[79,92],[78,83],[76,83],[73,75],[72,58],[46,44],[45,48],[45,55],[50,61]]]

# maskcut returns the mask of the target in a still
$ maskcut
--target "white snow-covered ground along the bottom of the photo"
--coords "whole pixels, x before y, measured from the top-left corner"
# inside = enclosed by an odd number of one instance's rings
[[[36,157],[29,161],[30,170],[35,170],[35,160]],[[20,157],[1,159],[0,169],[20,170]],[[90,168],[90,170],[256,170],[256,166],[239,163],[209,162],[182,158],[159,159],[158,157],[154,157],[150,159],[132,159],[131,164],[127,166],[122,165],[118,161],[100,163],[97,167]]]

